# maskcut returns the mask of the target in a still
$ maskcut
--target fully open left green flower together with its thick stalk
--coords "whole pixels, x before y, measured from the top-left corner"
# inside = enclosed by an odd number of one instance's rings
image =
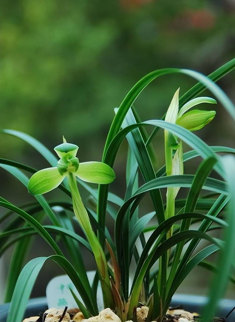
[[[74,214],[86,234],[86,238],[94,253],[101,280],[104,305],[114,308],[113,293],[105,254],[92,230],[89,216],[79,194],[76,177],[90,183],[109,184],[115,179],[115,173],[110,166],[102,162],[79,163],[76,157],[78,146],[67,143],[64,138],[63,140],[64,143],[54,148],[60,157],[57,167],[43,169],[32,175],[29,180],[28,190],[33,195],[45,194],[58,187],[65,178],[68,178]]]

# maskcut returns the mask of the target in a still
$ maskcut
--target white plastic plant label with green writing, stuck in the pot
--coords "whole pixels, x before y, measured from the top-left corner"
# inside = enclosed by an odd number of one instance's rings
[[[95,271],[87,272],[87,277],[92,283],[95,276]],[[77,308],[77,304],[70,292],[70,289],[74,291],[79,300],[83,303],[82,298],[78,294],[71,279],[67,275],[60,275],[50,280],[46,289],[47,303],[49,308]],[[84,303],[83,303],[84,304]],[[103,309],[103,296],[100,285],[97,289],[97,304],[99,311]]]

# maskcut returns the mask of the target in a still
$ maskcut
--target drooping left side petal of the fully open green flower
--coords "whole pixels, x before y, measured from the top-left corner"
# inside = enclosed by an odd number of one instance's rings
[[[36,172],[29,179],[28,190],[31,194],[45,194],[61,184],[65,175],[60,175],[57,167]]]

